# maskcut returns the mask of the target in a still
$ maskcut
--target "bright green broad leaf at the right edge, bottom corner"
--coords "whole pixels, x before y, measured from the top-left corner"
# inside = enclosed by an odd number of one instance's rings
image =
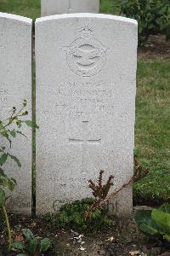
[[[154,209],[151,217],[156,221],[156,224],[164,231],[164,234],[170,234],[170,214]]]

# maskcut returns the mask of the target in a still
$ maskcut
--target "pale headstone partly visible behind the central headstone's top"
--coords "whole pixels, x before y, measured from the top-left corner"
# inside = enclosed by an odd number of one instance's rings
[[[42,0],[42,16],[71,13],[99,13],[99,0]]]

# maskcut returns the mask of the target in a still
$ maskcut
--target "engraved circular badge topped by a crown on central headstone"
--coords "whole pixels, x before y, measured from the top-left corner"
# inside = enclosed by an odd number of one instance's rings
[[[67,49],[67,62],[71,71],[82,77],[91,77],[105,66],[106,49],[89,27],[82,28],[77,38]]]

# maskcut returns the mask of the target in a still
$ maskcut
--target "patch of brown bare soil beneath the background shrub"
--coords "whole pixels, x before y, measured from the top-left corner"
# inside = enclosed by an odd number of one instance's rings
[[[170,59],[170,40],[165,35],[150,35],[147,43],[138,49],[139,59]]]

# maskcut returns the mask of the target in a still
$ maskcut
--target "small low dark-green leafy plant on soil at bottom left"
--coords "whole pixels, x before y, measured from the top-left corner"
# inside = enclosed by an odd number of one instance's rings
[[[14,242],[12,247],[20,254],[18,256],[39,256],[41,253],[47,252],[51,247],[51,241],[46,238],[36,237],[31,230],[23,229],[23,241]]]

